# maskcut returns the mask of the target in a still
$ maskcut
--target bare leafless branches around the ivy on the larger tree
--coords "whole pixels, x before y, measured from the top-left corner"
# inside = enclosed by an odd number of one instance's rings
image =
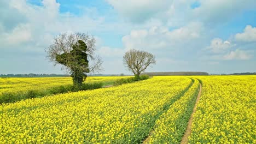
[[[89,35],[88,33],[62,33],[57,35],[54,38],[53,44],[45,49],[47,53],[46,57],[50,62],[53,62],[54,65],[58,64],[56,61],[56,56],[63,53],[69,53],[72,50],[72,47],[78,43],[78,40],[84,41],[87,46],[85,52],[88,54],[89,58],[90,73],[99,73],[102,70],[102,59],[100,56],[95,55],[96,40],[94,37],[92,37],[92,35]],[[62,69],[66,69],[69,71],[69,73],[71,72],[71,67],[77,67],[73,64],[75,61],[77,61],[75,57],[66,57],[63,58],[62,61],[68,62],[66,66],[62,67]]]

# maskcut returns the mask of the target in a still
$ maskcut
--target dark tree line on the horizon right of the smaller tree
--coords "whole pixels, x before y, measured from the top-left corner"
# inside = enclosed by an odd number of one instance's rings
[[[179,72],[150,72],[150,73],[142,73],[143,75],[149,76],[158,76],[158,75],[209,75],[206,72],[198,72],[198,71],[179,71]]]

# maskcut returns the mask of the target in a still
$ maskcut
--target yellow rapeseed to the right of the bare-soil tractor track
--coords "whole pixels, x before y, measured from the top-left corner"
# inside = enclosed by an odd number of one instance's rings
[[[256,143],[256,76],[197,76],[190,143]]]

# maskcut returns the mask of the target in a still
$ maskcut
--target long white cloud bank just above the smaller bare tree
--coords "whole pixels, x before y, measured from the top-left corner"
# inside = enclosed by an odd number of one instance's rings
[[[133,30],[122,40],[125,49],[174,49],[177,45],[185,46],[188,41],[200,38],[202,31],[201,23],[189,23],[187,26],[172,31],[167,27],[151,27],[148,30]]]

